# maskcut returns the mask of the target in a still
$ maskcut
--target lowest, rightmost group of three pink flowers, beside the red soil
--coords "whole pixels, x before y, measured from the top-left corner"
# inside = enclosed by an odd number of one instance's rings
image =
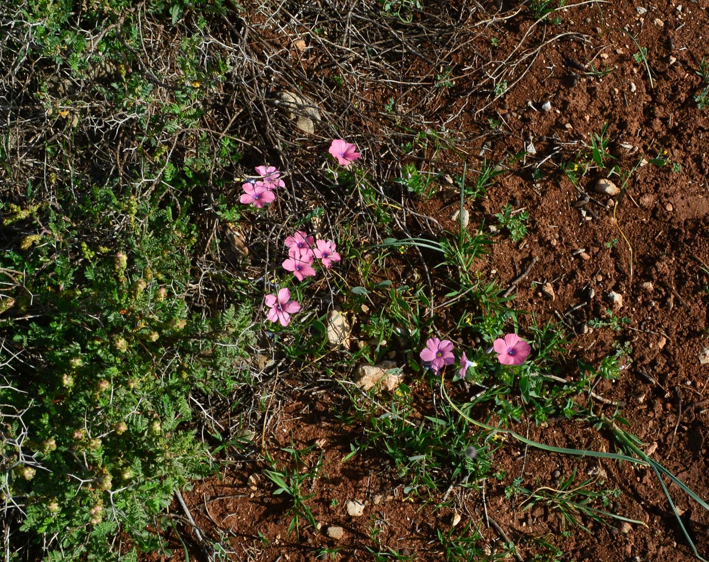
[[[502,365],[522,365],[527,359],[527,355],[532,350],[531,346],[525,342],[516,333],[508,333],[504,338],[497,338],[491,352],[495,350],[497,360]],[[426,342],[426,347],[420,352],[421,360],[428,363],[435,374],[440,373],[441,369],[446,365],[453,365],[455,355],[453,355],[453,343],[450,340],[440,340],[438,338],[430,338]],[[458,369],[458,379],[463,379],[471,367],[477,367],[477,363],[471,361],[463,352],[460,357],[460,369]]]

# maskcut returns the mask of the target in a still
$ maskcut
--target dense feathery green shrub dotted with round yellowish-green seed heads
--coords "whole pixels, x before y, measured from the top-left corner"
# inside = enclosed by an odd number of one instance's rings
[[[0,262],[0,488],[48,559],[104,561],[121,530],[159,548],[148,525],[210,471],[189,396],[239,381],[225,373],[246,355],[250,307],[190,314],[189,200],[77,195],[0,210],[12,240]]]

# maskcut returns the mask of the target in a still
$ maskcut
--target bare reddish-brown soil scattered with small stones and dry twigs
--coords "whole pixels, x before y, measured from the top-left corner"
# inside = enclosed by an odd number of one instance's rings
[[[394,38],[404,33],[417,37],[406,43],[416,48],[401,48],[396,57],[379,57],[374,39],[369,52],[362,49],[362,42],[350,41],[352,37],[364,41],[376,25],[384,28],[372,23],[374,19],[356,18],[358,13],[379,13],[378,4],[365,2],[349,10],[344,4],[312,4],[286,4],[272,13],[247,6],[241,17],[260,35],[239,40],[257,59],[269,52],[291,57],[299,73],[313,80],[317,76],[322,84],[332,84],[333,76],[344,80],[342,93],[335,89],[333,96],[339,96],[341,108],[346,109],[335,122],[343,134],[359,132],[345,138],[357,142],[364,159],[384,171],[395,174],[393,162],[386,162],[396,154],[385,149],[411,137],[401,132],[404,127],[415,132],[445,127],[457,139],[454,149],[429,141],[406,155],[408,161],[425,163],[430,169],[460,174],[464,164],[474,170],[484,161],[504,161],[504,173],[495,178],[487,196],[470,200],[468,229],[489,232],[494,214],[510,203],[515,210],[529,213],[528,233],[517,243],[494,235],[489,259],[480,261],[479,267],[503,286],[529,268],[516,284],[517,296],[511,304],[534,313],[539,321],[561,320],[575,333],[570,357],[593,364],[613,349],[613,342],[632,348],[632,360],[622,377],[594,389],[603,397],[596,407],[609,414],[620,407],[627,429],[642,439],[646,450],[652,450],[652,457],[708,499],[709,367],[701,365],[698,357],[707,345],[709,328],[709,113],[698,109],[695,101],[705,86],[697,71],[709,55],[708,2],[580,2],[538,22],[529,6],[507,1],[424,2],[421,11],[411,11],[410,23],[396,16],[384,19],[387,29],[382,36],[390,38],[386,34],[391,32]],[[555,17],[557,23],[552,21]],[[321,28],[319,35],[315,26]],[[235,23],[225,33],[238,35],[240,29]],[[647,49],[652,84],[642,57],[634,57],[639,45]],[[352,72],[337,66],[348,50]],[[593,69],[613,71],[593,76]],[[432,76],[437,75],[445,75],[451,84],[435,84]],[[382,76],[391,78],[386,87],[376,80]],[[276,74],[272,87],[279,86],[278,80]],[[496,98],[494,85],[503,80],[508,92]],[[398,123],[385,109],[390,98],[399,108]],[[547,101],[550,109],[544,105]],[[627,172],[642,158],[668,163],[638,165],[619,197],[595,193],[603,171],[588,171],[577,189],[559,168],[574,161],[605,123],[609,154],[614,158],[610,166],[618,164]],[[325,132],[320,137],[306,135],[303,146],[319,147],[326,137]],[[300,162],[287,164],[295,170]],[[612,179],[623,183],[618,176]],[[407,222],[413,236],[457,228],[450,203],[457,200],[458,192],[445,180],[430,199],[404,193],[391,178],[384,182],[385,192],[415,213],[408,215]],[[328,201],[330,195],[313,190],[308,197],[312,198],[306,205],[315,205]],[[401,281],[397,276],[403,271],[391,275]],[[553,288],[553,299],[540,290],[546,283]],[[611,292],[623,299],[615,311],[618,318],[629,321],[620,331],[593,328],[594,320],[608,320]],[[430,386],[405,374],[413,396],[421,403],[430,402]],[[570,370],[569,378],[574,374]],[[226,464],[218,476],[195,483],[192,491],[184,493],[201,533],[213,539],[227,537],[238,553],[230,559],[243,561],[313,560],[316,549],[326,547],[341,549],[337,559],[385,559],[367,551],[375,544],[378,551],[389,547],[412,560],[443,559],[437,531],[451,528],[453,513],[450,508],[434,507],[445,491],[428,502],[411,501],[403,491],[405,483],[394,477],[389,461],[376,452],[342,462],[361,430],[342,423],[339,414],[347,408],[347,396],[341,386],[325,375],[311,377],[307,384],[292,372],[280,372],[279,377],[279,385],[289,389],[289,403],[281,399],[284,395],[273,395],[260,418],[238,423],[255,432],[253,451],[263,445],[276,459],[284,458],[281,447],[316,445],[304,461],[314,462],[322,455],[322,477],[308,500],[320,528],[303,524],[299,534],[288,534],[286,500],[272,494],[272,483],[262,476],[264,465],[252,460],[257,454],[247,451]],[[347,379],[350,373],[338,377]],[[235,427],[235,420],[230,423]],[[601,451],[613,447],[603,431],[563,419],[513,429],[549,445]],[[455,498],[461,528],[479,525],[484,537],[480,548],[488,553],[501,552],[503,544],[512,541],[519,549],[517,559],[556,560],[543,557],[548,554],[538,546],[541,537],[565,553],[560,558],[564,561],[695,559],[650,469],[549,454],[514,442],[505,443],[495,461],[507,476],[489,480],[484,495],[455,487],[446,494]],[[545,507],[522,510],[506,497],[506,486],[517,476],[527,481],[540,478],[541,484],[552,486],[559,474],[569,475],[574,469],[579,474],[605,471],[605,486],[623,492],[611,507],[647,525],[618,532],[585,521],[591,532],[576,529],[564,534],[558,512]],[[260,479],[250,481],[252,475]],[[676,487],[670,491],[700,554],[708,556],[708,513]],[[345,505],[350,500],[364,503],[363,517],[347,515]],[[173,509],[182,517],[179,505]],[[328,537],[330,526],[342,527],[342,538]],[[372,529],[377,529],[376,541]],[[199,543],[186,524],[182,539],[189,537]],[[172,532],[167,532],[167,538],[174,547],[172,559],[181,559],[181,542]],[[205,556],[198,546],[190,551],[198,559]]]

